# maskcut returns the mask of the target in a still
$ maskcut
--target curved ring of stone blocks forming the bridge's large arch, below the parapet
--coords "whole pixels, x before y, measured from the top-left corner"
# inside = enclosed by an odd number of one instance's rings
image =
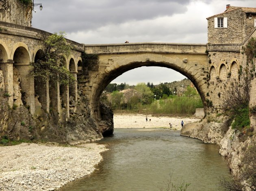
[[[99,58],[99,65],[100,64],[107,67],[104,71],[98,72],[97,76],[94,76],[93,79],[90,79],[90,82],[87,83],[87,85],[91,86],[91,93],[88,93],[90,96],[91,114],[98,120],[101,120],[99,98],[105,87],[113,81],[113,79],[117,78],[117,76],[141,66],[159,66],[180,72],[191,80],[198,90],[202,101],[205,101],[205,95],[208,91],[206,81],[208,72],[204,73],[203,70],[206,68],[202,69],[200,66],[197,66],[198,62],[187,62],[187,60],[180,59],[177,56],[168,57],[157,53],[141,53],[139,55],[124,55],[123,59],[120,57],[116,62],[113,62],[111,59],[106,59],[103,55],[102,58]]]

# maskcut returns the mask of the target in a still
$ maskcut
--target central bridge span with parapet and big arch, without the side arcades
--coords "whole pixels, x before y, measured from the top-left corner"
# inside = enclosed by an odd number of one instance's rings
[[[84,50],[98,55],[98,62],[87,68],[83,86],[91,114],[98,120],[101,120],[99,98],[105,87],[117,76],[141,66],[160,66],[180,72],[193,82],[205,101],[209,70],[206,45],[145,42],[84,45]]]

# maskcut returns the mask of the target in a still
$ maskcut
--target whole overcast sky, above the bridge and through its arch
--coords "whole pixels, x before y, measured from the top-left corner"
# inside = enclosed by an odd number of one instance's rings
[[[226,4],[256,7],[256,0],[34,0],[32,26],[64,31],[84,44],[129,42],[207,43],[207,17],[222,13]],[[136,85],[184,79],[161,67],[130,70],[113,82]]]

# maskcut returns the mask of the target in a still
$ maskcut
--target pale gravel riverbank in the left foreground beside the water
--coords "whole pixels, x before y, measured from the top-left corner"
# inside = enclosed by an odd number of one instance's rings
[[[23,143],[0,147],[1,191],[56,190],[91,174],[104,145],[55,146]]]

